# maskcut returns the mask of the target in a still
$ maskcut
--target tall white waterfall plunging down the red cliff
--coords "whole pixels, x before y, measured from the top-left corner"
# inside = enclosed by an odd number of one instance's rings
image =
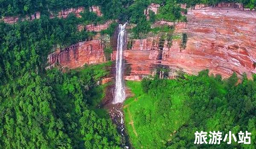
[[[123,48],[125,45],[125,24],[119,24],[119,34],[116,49],[116,86],[113,104],[125,100],[125,85],[123,79]]]

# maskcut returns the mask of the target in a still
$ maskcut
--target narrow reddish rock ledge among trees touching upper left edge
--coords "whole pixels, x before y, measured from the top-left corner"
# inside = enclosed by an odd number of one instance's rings
[[[14,24],[16,23],[18,20],[24,21],[24,20],[35,20],[35,19],[39,19],[41,16],[40,12],[35,12],[35,14],[32,14],[30,16],[26,16],[25,18],[20,18],[19,16],[15,16],[15,17],[3,17],[1,20],[3,20],[5,23],[8,24]]]

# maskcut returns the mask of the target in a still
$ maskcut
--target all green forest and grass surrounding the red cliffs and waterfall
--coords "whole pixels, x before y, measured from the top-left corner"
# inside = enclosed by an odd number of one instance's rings
[[[223,0],[221,0],[223,1]],[[241,2],[250,9],[255,0]],[[25,17],[41,12],[41,18],[6,24],[0,21],[0,149],[120,149],[124,139],[118,133],[108,112],[97,105],[105,96],[106,85],[97,85],[108,76],[113,63],[62,72],[45,69],[47,56],[57,48],[64,49],[80,41],[91,40],[96,32],[79,32],[79,24],[119,20],[134,23],[134,38],[151,32],[155,20],[186,21],[180,3],[214,5],[220,0],[0,0],[0,19]],[[159,14],[144,9],[150,3],[161,4]],[[99,6],[103,16],[89,11]],[[69,14],[50,19],[50,12],[83,6],[81,18]],[[117,23],[102,31],[113,35]],[[169,29],[167,29],[169,31]],[[107,52],[112,52],[110,49]],[[108,53],[109,54],[109,53]],[[145,79],[127,82],[134,97],[125,102],[125,115],[131,112],[137,136],[125,117],[128,137],[134,148],[181,149],[215,148],[195,146],[196,130],[218,129],[227,132],[248,130],[254,145],[237,143],[219,148],[254,149],[255,83],[244,79],[237,84],[234,74],[228,80],[220,76],[184,74],[177,80]],[[133,102],[136,98],[136,102]],[[152,106],[153,105],[153,106]],[[136,116],[135,116],[136,115]],[[177,121],[178,119],[178,121]],[[161,133],[159,133],[161,132]],[[172,134],[172,136],[170,136]]]

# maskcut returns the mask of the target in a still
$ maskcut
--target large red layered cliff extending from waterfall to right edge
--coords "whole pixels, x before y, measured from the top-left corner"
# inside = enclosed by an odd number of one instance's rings
[[[245,72],[249,78],[256,73],[255,11],[204,7],[189,10],[187,20],[175,25],[175,34],[187,35],[185,49],[180,46],[182,36],[172,43],[159,37],[128,41],[131,48],[124,56],[131,67],[130,78],[152,74],[157,66],[189,74],[209,69],[224,78],[233,72],[240,77]]]

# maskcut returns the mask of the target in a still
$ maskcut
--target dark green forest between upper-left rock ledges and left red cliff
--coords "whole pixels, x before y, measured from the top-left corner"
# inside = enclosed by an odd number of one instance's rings
[[[90,38],[89,32],[77,30],[78,21],[70,15],[66,20],[42,16],[32,22],[0,23],[0,84],[26,72],[43,73],[52,48]]]

